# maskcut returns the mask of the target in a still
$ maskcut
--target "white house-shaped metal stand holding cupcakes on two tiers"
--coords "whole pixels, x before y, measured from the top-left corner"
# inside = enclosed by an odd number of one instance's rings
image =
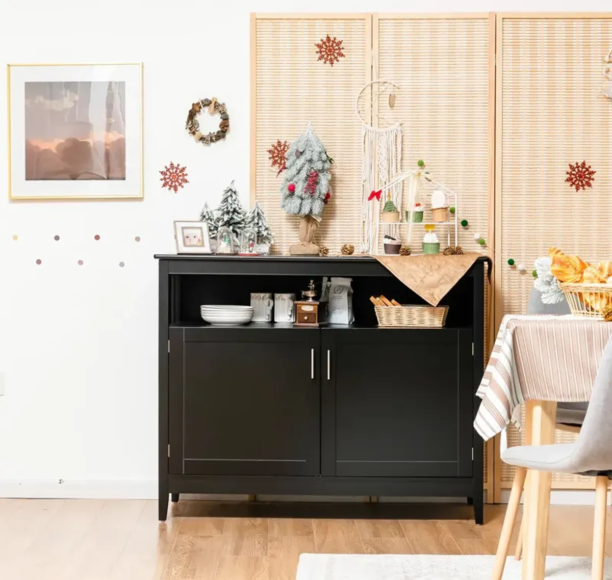
[[[447,247],[458,246],[457,194],[434,179],[431,173],[425,169],[425,163],[422,160],[419,160],[417,165],[417,169],[399,174],[383,185],[380,191],[372,192],[374,195],[383,193],[387,198],[376,222],[376,238],[382,237],[383,239],[383,244],[378,247],[379,255],[399,253],[399,251],[396,251],[395,244],[401,245],[402,242],[405,242],[409,247],[416,248],[422,243],[424,254],[436,254],[440,248],[439,236],[442,236],[442,240],[446,238],[445,245]],[[405,180],[408,184],[408,191],[407,193],[403,191],[401,193],[400,208],[408,207],[409,209],[405,211],[406,220],[400,221],[400,211],[391,200],[389,191]],[[428,208],[417,201],[419,190],[421,190],[420,195],[427,195],[425,192],[428,192]],[[372,197],[370,196],[370,198]],[[434,232],[431,225],[439,226],[441,231],[439,233]],[[417,228],[424,226],[425,228],[424,237],[419,244],[414,244],[412,240],[412,232],[415,226]],[[382,236],[379,235],[381,229]],[[390,244],[390,239],[395,244]]]

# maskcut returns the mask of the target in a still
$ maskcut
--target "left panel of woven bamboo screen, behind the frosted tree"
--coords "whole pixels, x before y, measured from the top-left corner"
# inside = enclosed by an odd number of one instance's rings
[[[318,60],[316,43],[341,40],[344,56]],[[330,254],[349,242],[359,248],[361,160],[359,118],[354,100],[370,81],[371,15],[252,15],[251,198],[266,212],[274,253],[299,241],[299,218],[280,207],[282,176],[268,150],[289,144],[312,122],[330,157],[332,195],[319,228]]]

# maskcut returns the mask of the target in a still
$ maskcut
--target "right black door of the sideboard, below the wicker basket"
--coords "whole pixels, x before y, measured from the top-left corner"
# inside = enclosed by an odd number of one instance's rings
[[[321,335],[323,475],[471,477],[471,330]]]

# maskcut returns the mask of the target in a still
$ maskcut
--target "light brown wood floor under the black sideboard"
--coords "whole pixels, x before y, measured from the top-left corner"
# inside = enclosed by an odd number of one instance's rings
[[[261,516],[272,509],[181,501],[159,524],[154,501],[0,499],[0,578],[294,580],[301,552],[493,554],[505,506],[487,506],[485,526],[468,521],[465,505],[414,506],[411,518],[418,519],[401,520]],[[338,509],[355,513],[356,506]],[[364,508],[371,509],[378,508]],[[236,517],[241,513],[250,517]],[[591,537],[592,507],[551,507],[550,554],[589,555]]]

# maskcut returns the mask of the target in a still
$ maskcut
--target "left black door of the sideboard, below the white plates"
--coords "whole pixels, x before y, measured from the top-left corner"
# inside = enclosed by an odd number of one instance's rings
[[[170,441],[180,458],[171,453],[171,469],[318,475],[318,357],[316,329],[171,332]]]

